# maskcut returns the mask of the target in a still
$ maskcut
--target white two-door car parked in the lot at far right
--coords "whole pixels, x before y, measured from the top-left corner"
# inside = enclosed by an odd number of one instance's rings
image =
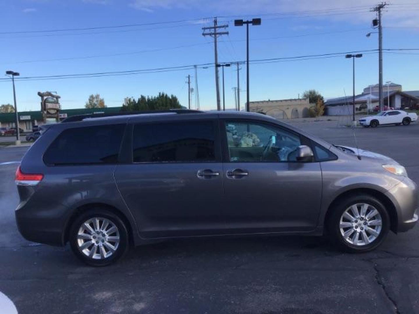
[[[375,128],[381,124],[409,125],[418,118],[416,113],[406,112],[403,110],[382,111],[375,116],[367,116],[358,120],[360,126]]]

